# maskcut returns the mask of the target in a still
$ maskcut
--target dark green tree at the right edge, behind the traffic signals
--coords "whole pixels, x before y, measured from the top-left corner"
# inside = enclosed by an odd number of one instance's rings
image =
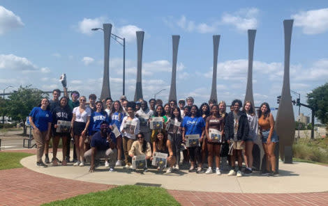
[[[315,111],[315,117],[322,124],[328,124],[328,83],[312,90],[307,95],[308,105]]]

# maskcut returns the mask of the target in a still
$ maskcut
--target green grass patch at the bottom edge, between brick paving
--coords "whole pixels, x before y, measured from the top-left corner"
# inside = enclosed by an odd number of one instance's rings
[[[180,205],[161,187],[125,185],[44,205]]]

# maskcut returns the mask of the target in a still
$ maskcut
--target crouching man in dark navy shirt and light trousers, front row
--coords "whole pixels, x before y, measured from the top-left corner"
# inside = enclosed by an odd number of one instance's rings
[[[110,162],[110,172],[114,171],[117,161],[116,138],[109,129],[108,122],[100,124],[100,132],[96,132],[91,138],[91,149],[84,153],[84,158],[90,163],[90,173],[94,172],[95,159],[108,159]]]

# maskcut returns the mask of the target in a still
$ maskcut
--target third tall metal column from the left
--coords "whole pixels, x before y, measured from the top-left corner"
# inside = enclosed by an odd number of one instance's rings
[[[172,35],[172,77],[171,88],[169,95],[169,102],[172,100],[177,101],[177,58],[179,48],[180,35]]]

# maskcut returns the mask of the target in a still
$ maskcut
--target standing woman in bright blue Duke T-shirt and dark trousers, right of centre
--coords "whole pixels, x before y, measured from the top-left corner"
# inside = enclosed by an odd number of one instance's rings
[[[204,139],[205,121],[200,116],[200,110],[196,105],[191,106],[191,116],[185,116],[182,121],[182,141],[189,141],[188,138],[194,138],[197,135],[198,143],[190,145],[186,142],[189,154],[191,156],[191,168],[189,172],[195,169],[196,160],[198,163],[197,173],[202,172],[202,158],[200,155],[200,141]]]

